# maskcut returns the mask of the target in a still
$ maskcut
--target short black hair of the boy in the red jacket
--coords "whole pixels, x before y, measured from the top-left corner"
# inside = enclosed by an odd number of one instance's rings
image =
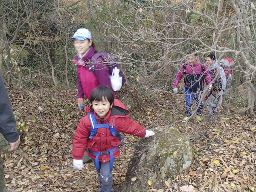
[[[111,88],[106,85],[98,86],[93,89],[92,93],[90,94],[90,103],[92,104],[93,101],[102,101],[102,98],[108,99],[110,104],[114,102],[114,94]]]

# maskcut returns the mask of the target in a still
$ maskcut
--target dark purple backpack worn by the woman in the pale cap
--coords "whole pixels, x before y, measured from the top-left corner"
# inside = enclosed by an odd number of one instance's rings
[[[114,57],[114,55],[112,55],[111,53],[107,53],[107,52],[97,52],[93,55],[93,57],[90,59],[91,65],[89,68],[89,71],[93,71],[94,75],[95,75],[95,62],[97,61],[97,59],[99,57],[102,57],[104,60],[104,64],[106,67],[109,68],[109,74],[112,75],[113,69],[115,67],[117,67],[117,69],[120,70],[119,72],[119,76],[122,77],[122,86],[125,84],[125,76],[119,66],[119,64],[116,63],[116,59]]]

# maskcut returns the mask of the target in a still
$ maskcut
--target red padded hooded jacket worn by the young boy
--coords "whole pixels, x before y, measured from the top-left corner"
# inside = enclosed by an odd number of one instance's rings
[[[92,106],[85,109],[86,113],[94,113],[98,124],[110,123],[111,126],[116,126],[116,133],[124,132],[127,134],[135,135],[137,137],[145,137],[146,131],[134,120],[129,119],[130,111],[122,104],[119,100],[114,100],[114,105],[106,115],[104,119],[99,119],[96,113],[93,111]],[[104,152],[109,149],[115,148],[121,144],[118,137],[111,135],[108,128],[98,128],[96,134],[92,139],[90,136],[91,124],[88,115],[81,119],[78,127],[76,128],[76,133],[73,139],[73,158],[80,160],[84,155],[85,148],[90,157],[95,160],[96,155],[90,153],[93,152]],[[117,157],[120,154],[119,148],[113,151],[113,157]],[[110,154],[99,156],[100,162],[110,161]]]

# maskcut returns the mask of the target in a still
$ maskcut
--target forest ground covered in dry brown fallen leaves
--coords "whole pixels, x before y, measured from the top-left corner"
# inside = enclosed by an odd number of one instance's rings
[[[85,115],[76,105],[77,90],[9,91],[15,111],[17,128],[23,130],[19,148],[3,155],[6,187],[10,192],[96,192],[99,182],[92,163],[82,171],[72,166],[72,141],[80,119]],[[137,93],[117,93],[122,100],[127,96],[136,100]],[[256,188],[256,117],[239,116],[218,118],[214,122],[204,116],[202,122],[190,119],[186,125],[184,96],[159,92],[152,97],[142,96],[137,103],[141,109],[134,120],[145,128],[168,125],[166,116],[172,115],[172,126],[187,136],[194,145],[194,161],[189,170],[163,183],[161,189],[150,192],[206,192],[251,191]],[[88,103],[87,103],[88,104]],[[113,168],[113,187],[121,192],[128,162],[133,156],[137,139],[122,135],[125,145]],[[167,184],[167,185],[166,185]]]

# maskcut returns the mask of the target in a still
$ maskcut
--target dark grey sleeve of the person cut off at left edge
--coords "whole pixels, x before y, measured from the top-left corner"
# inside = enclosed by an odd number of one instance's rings
[[[3,77],[0,72],[0,133],[9,143],[15,143],[20,139],[16,128],[16,121],[12,111]],[[12,146],[12,145],[11,145]]]

